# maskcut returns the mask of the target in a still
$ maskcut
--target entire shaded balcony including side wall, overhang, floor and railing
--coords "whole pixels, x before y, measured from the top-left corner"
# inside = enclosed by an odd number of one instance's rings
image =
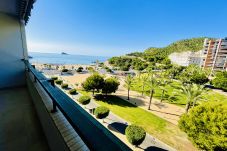
[[[131,150],[28,63],[34,2],[0,0],[0,150]]]

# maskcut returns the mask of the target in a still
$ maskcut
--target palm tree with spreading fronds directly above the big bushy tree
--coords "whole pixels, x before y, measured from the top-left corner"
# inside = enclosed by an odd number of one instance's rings
[[[185,112],[188,113],[188,110],[195,106],[196,102],[202,99],[202,95],[206,93],[206,89],[202,85],[197,84],[184,84],[180,87],[182,96],[186,96],[186,107]]]

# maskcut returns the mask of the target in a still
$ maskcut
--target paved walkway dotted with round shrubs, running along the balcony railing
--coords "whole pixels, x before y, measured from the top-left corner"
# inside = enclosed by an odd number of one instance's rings
[[[73,95],[73,96],[69,95],[69,96],[77,103],[76,100],[81,95],[77,94],[77,95]],[[85,110],[89,111],[89,109],[96,108],[97,106],[99,105],[92,99],[91,102],[85,107]],[[148,150],[152,150],[152,151],[153,150],[157,150],[157,151],[175,150],[170,146],[166,145],[165,143],[161,142],[160,140],[156,139],[155,137],[151,136],[150,134],[146,135],[144,142],[140,145],[139,148],[135,148],[130,143],[128,143],[124,135],[125,128],[129,123],[127,123],[127,121],[125,121],[124,119],[120,118],[119,116],[115,115],[112,112],[110,112],[109,116],[105,119],[104,123],[102,120],[99,120],[99,121],[109,130],[111,130],[111,132],[114,133],[119,139],[121,139],[124,143],[126,143],[129,147],[131,147],[133,150],[147,150],[147,151]]]

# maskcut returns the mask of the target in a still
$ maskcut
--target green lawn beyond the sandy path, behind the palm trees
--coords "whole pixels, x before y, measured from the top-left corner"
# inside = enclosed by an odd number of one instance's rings
[[[136,80],[135,80],[136,81]],[[184,96],[180,96],[178,94],[181,93],[177,87],[181,85],[178,81],[173,81],[171,84],[165,86],[166,92],[164,95],[164,102],[168,102],[171,104],[176,104],[178,106],[184,107],[186,104],[186,99]],[[141,92],[141,85],[138,82],[133,84],[132,90]],[[149,88],[145,87],[147,91],[145,94],[149,95]],[[155,89],[154,97],[157,99],[161,99],[162,90],[160,88]],[[207,94],[203,96],[203,101],[225,101],[227,103],[227,96],[209,90]]]

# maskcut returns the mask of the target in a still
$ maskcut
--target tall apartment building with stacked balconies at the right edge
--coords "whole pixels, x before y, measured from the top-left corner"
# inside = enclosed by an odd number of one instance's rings
[[[213,70],[227,69],[227,38],[216,40],[204,40],[201,54],[201,67]]]

